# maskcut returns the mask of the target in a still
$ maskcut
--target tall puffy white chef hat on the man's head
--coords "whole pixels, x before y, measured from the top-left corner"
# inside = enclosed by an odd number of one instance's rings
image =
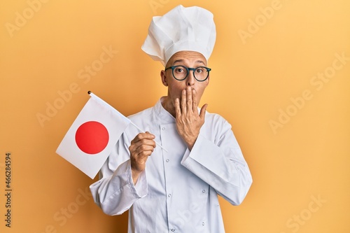
[[[208,60],[216,40],[213,14],[204,8],[176,6],[155,16],[148,28],[142,50],[165,66],[179,51],[200,52]]]

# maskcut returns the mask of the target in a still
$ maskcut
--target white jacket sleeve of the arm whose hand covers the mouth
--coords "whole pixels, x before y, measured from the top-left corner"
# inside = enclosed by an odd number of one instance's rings
[[[181,164],[233,205],[241,204],[251,187],[248,164],[231,125],[221,117],[214,127],[201,129],[195,145],[191,151],[186,150]]]

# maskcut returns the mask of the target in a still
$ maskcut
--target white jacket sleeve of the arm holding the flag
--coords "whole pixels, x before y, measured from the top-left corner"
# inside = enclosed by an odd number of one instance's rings
[[[124,213],[137,199],[147,195],[145,172],[139,176],[136,185],[132,181],[130,154],[125,139],[123,134],[100,170],[99,181],[90,185],[94,202],[108,215]]]

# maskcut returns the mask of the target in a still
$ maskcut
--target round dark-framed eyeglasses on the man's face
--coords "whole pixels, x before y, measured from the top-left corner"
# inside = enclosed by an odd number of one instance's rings
[[[199,66],[197,68],[188,68],[186,66],[170,66],[167,69],[172,69],[173,76],[176,80],[185,80],[190,71],[193,71],[193,76],[198,82],[203,82],[209,77],[210,68],[205,66]],[[165,69],[165,71],[167,70]]]

